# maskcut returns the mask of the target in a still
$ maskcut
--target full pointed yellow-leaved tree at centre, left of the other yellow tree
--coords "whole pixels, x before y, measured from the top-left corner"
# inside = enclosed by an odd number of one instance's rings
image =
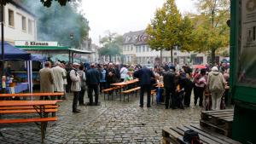
[[[182,17],[174,0],[167,0],[163,7],[156,10],[154,19],[147,27],[148,44],[151,49],[171,50],[178,46],[182,50],[191,50],[192,22],[188,17]]]

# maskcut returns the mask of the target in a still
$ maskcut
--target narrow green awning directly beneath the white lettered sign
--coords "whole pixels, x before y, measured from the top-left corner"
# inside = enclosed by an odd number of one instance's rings
[[[69,50],[67,46],[15,46],[23,50]]]

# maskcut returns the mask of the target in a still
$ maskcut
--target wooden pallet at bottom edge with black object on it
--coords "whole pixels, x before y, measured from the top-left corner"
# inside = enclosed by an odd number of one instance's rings
[[[163,143],[164,144],[185,144],[183,141],[183,135],[185,130],[195,130],[198,132],[201,142],[204,144],[240,144],[238,141],[234,141],[224,135],[219,135],[217,133],[211,132],[199,124],[191,124],[188,126],[178,126],[178,127],[165,127],[162,130]]]

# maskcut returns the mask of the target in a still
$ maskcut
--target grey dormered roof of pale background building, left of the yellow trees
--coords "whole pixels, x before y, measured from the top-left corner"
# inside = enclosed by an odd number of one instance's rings
[[[142,45],[147,44],[148,34],[142,30],[137,32],[127,32],[123,36],[123,44]]]

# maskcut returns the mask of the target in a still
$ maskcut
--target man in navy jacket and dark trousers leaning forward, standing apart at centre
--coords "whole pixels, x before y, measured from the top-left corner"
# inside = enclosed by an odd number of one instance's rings
[[[154,73],[150,71],[147,67],[143,67],[142,69],[134,72],[134,77],[139,78],[141,93],[140,93],[140,107],[143,107],[143,98],[144,92],[147,91],[147,107],[150,107],[150,90],[151,90],[151,78],[154,78]]]

